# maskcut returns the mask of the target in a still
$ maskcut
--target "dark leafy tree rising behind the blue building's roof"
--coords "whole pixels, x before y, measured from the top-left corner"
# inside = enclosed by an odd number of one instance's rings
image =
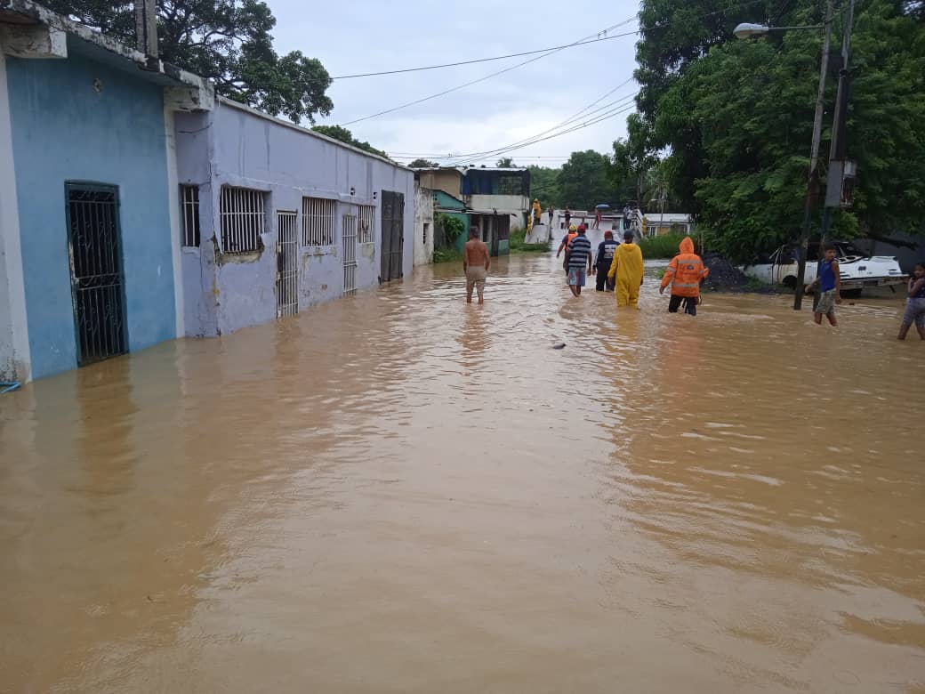
[[[133,4],[120,0],[45,0],[44,5],[129,45]],[[331,78],[315,58],[277,56],[270,31],[277,20],[261,0],[160,0],[160,58],[216,84],[216,93],[295,123],[314,123],[334,105]]]

